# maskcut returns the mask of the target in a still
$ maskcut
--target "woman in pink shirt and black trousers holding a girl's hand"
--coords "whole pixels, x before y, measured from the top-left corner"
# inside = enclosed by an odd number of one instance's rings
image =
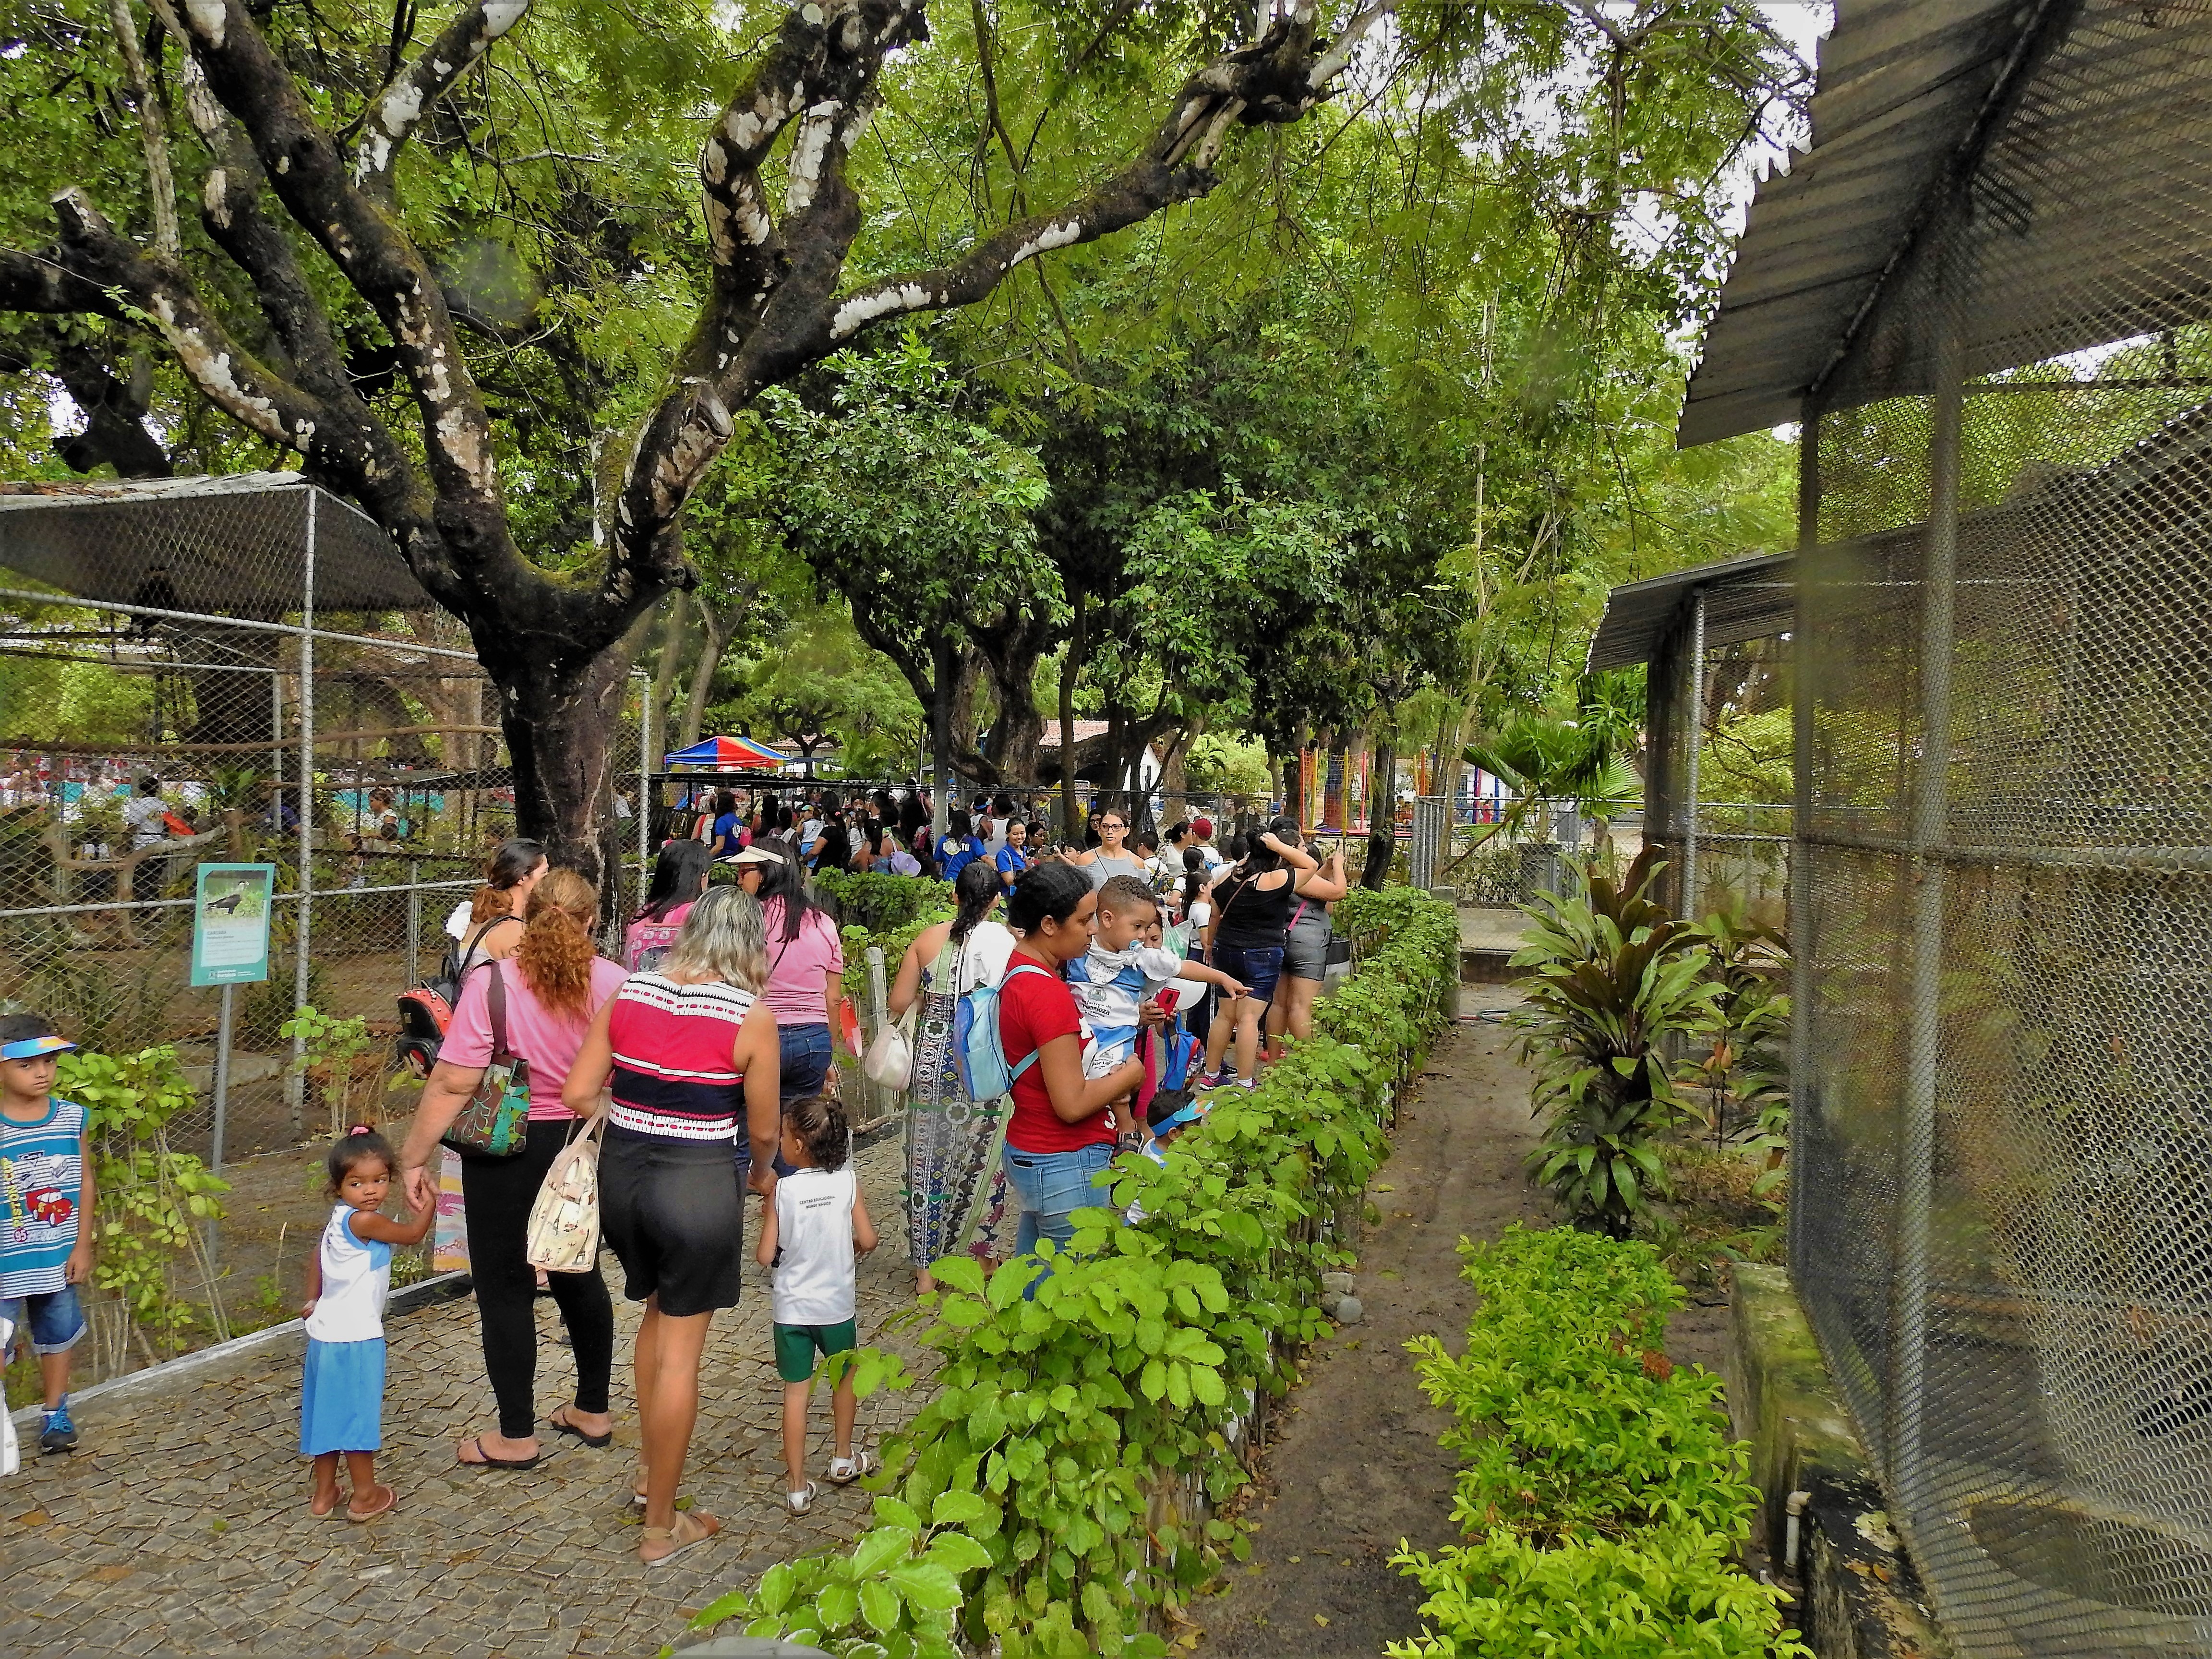
[[[460,1192],[469,1217],[469,1281],[484,1327],[484,1371],[500,1402],[500,1431],[465,1440],[458,1458],[471,1467],[531,1469],[538,1444],[538,1321],[531,1312],[538,1276],[524,1254],[531,1203],[553,1155],[568,1141],[575,1115],[560,1091],[575,1066],[591,1018],[622,984],[622,967],[593,947],[599,894],[573,869],[555,869],[531,894],[522,945],[507,962],[473,969],[460,989],[438,1064],[422,1086],[414,1128],[400,1152],[407,1201],[438,1201],[429,1159],[438,1137],[469,1104],[491,1064],[491,982],[507,1004],[507,1048],[531,1062],[529,1144],[515,1157],[460,1155]],[[586,1447],[613,1440],[606,1383],[615,1365],[615,1305],[597,1265],[580,1274],[549,1274],[553,1303],[575,1347],[575,1400],[546,1422]]]

